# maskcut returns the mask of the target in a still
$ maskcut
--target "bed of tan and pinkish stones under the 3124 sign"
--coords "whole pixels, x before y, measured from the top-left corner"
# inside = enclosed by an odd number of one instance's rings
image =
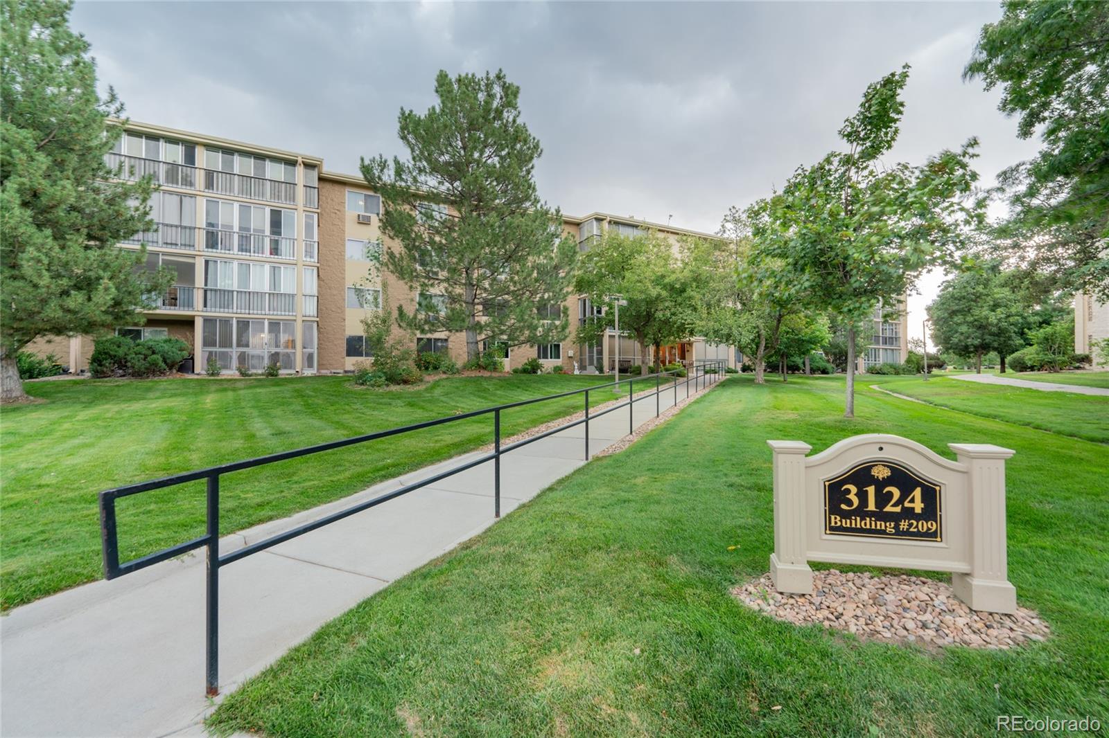
[[[872,640],[1011,648],[1050,635],[1035,611],[979,613],[958,599],[949,584],[919,576],[813,572],[813,591],[810,595],[776,592],[770,574],[764,574],[734,587],[732,595],[779,621],[820,624]]]

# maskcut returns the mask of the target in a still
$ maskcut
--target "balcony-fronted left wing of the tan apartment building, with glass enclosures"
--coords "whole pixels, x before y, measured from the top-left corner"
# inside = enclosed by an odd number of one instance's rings
[[[208,359],[224,371],[317,371],[319,157],[129,123],[105,158],[121,176],[159,185],[154,228],[119,246],[145,244],[145,267],[175,275],[146,320],[118,332],[180,338],[195,371]],[[93,344],[48,338],[32,349],[80,372]]]

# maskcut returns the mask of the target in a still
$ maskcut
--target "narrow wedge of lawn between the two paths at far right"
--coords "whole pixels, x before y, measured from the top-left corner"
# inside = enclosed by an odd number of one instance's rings
[[[984,418],[1109,443],[1109,397],[1045,392],[949,377],[924,381],[918,377],[869,375],[864,383]]]

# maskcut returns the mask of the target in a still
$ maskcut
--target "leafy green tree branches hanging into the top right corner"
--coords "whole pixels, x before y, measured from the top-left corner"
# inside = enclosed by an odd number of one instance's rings
[[[999,176],[1010,216],[994,250],[1109,299],[1109,3],[1006,0],[983,27],[964,79],[1001,89],[1017,135],[1044,147]]]

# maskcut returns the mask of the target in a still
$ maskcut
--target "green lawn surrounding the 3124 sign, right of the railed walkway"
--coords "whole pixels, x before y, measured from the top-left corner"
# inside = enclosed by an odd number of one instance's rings
[[[864,383],[868,381],[864,380]],[[938,382],[936,382],[938,385]],[[863,389],[732,378],[623,453],[324,626],[231,694],[268,736],[965,736],[1109,716],[1106,448]],[[861,642],[736,604],[773,547],[766,439],[884,431],[1013,448],[1009,572],[1054,636],[1009,652]],[[737,549],[729,551],[729,546]],[[936,578],[943,575],[934,574]]]

